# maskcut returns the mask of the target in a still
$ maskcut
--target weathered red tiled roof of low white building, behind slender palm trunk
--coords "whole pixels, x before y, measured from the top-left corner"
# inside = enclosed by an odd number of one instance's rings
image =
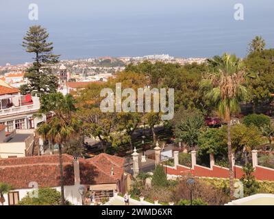
[[[99,156],[109,157],[110,155]],[[120,165],[121,159],[114,156],[110,156],[109,159],[110,163],[105,161],[105,165],[101,166],[102,159],[97,158],[98,162],[91,162],[90,159],[79,158],[80,183],[86,185],[116,183],[121,179],[123,168],[118,168],[116,165],[114,175],[111,175],[112,160],[115,163],[119,161]],[[73,157],[63,154],[62,160],[64,185],[74,185]],[[60,186],[58,155],[0,159],[0,182],[9,183],[16,189],[29,188],[29,183],[32,181],[37,182],[40,187]]]

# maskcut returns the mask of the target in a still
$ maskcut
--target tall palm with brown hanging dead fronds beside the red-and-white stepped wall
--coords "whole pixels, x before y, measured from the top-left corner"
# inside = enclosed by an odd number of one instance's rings
[[[227,53],[208,60],[212,73],[206,74],[201,82],[201,89],[206,97],[214,103],[219,115],[227,123],[227,149],[229,160],[230,198],[234,196],[234,171],[232,168],[231,116],[240,111],[240,102],[247,99],[247,88],[244,86],[247,73],[236,55]]]

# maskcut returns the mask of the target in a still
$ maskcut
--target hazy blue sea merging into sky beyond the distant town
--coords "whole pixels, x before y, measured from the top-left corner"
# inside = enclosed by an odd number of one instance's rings
[[[38,5],[38,21],[28,18]],[[244,20],[234,19],[234,5]],[[256,35],[274,47],[273,0],[1,0],[0,65],[32,62],[21,47],[31,25],[49,31],[62,59],[99,56],[244,57]]]

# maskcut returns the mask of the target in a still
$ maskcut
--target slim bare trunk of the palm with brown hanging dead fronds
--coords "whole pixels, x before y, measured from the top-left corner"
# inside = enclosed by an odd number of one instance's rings
[[[229,162],[229,192],[230,199],[234,199],[234,170],[232,166],[232,144],[231,144],[231,123],[230,118],[227,122],[227,151],[228,151],[228,162]]]

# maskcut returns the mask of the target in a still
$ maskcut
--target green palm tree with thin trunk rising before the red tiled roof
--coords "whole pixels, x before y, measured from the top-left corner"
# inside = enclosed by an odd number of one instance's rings
[[[79,120],[73,116],[75,100],[70,94],[51,93],[41,97],[39,114],[53,114],[38,127],[38,133],[53,144],[58,144],[60,162],[61,205],[64,205],[64,175],[62,145],[79,130]]]

